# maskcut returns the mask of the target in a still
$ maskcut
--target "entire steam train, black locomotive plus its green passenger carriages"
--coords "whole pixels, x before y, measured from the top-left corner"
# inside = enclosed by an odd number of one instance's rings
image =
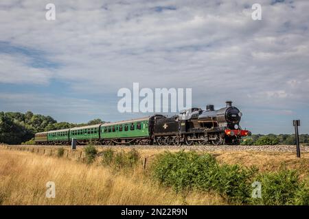
[[[231,101],[226,103],[226,107],[219,110],[207,105],[206,110],[194,107],[171,117],[155,114],[135,120],[41,132],[35,134],[34,141],[36,144],[69,144],[75,138],[78,144],[239,144],[243,136],[251,133],[240,127],[240,110],[232,106]]]

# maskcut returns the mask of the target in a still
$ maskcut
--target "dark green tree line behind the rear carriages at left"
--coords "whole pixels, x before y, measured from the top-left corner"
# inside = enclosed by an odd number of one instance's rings
[[[21,144],[34,138],[34,133],[69,129],[84,125],[104,123],[100,118],[90,120],[88,123],[57,123],[51,116],[33,114],[32,112],[0,112],[0,143]]]

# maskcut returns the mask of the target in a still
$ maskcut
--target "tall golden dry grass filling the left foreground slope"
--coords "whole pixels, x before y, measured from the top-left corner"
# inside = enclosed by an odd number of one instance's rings
[[[216,194],[176,194],[160,188],[137,168],[113,172],[65,158],[0,149],[2,205],[218,205]],[[56,183],[56,198],[46,198],[47,181]]]

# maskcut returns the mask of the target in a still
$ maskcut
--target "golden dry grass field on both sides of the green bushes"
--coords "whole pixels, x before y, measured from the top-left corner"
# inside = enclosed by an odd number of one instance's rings
[[[19,149],[19,150],[16,150]],[[115,150],[128,151],[127,148]],[[137,149],[151,163],[155,154],[166,149]],[[99,149],[102,151],[102,149]],[[170,151],[179,151],[170,149]],[[309,176],[309,153],[297,159],[294,153],[254,151],[211,151],[219,162],[255,165],[261,171],[280,166],[297,169],[301,178]],[[97,161],[87,165],[82,149],[66,148],[64,157],[56,157],[54,147],[0,146],[1,205],[225,205],[217,194],[188,192],[176,194],[150,181],[143,165],[134,170],[115,171]],[[46,198],[47,181],[56,184],[56,198]]]

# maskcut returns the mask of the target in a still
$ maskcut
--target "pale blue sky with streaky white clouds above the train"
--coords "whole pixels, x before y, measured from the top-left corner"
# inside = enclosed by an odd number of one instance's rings
[[[139,82],[192,88],[202,108],[231,99],[253,133],[292,133],[296,118],[309,133],[308,11],[309,1],[2,0],[0,111],[137,118],[117,111],[117,91]]]

